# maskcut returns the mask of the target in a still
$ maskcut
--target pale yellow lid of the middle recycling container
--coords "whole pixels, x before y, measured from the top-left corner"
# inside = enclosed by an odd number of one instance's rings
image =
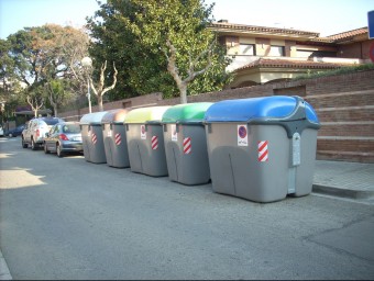
[[[124,123],[146,123],[148,121],[162,121],[163,114],[170,106],[150,106],[134,109],[124,117]]]

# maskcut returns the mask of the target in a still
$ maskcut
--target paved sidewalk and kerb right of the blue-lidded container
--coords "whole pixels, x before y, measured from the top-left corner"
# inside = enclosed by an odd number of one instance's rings
[[[312,192],[351,199],[374,198],[374,164],[316,160]]]

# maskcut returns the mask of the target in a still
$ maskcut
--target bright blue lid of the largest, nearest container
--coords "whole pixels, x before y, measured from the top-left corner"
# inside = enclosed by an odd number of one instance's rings
[[[302,109],[301,109],[301,108]],[[220,101],[211,105],[206,122],[292,121],[319,123],[314,109],[299,97],[272,95]]]

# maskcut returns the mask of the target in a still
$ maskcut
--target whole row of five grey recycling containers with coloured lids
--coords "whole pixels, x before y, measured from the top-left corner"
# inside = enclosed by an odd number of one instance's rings
[[[311,192],[320,127],[300,97],[119,109],[80,120],[85,159],[255,202]]]

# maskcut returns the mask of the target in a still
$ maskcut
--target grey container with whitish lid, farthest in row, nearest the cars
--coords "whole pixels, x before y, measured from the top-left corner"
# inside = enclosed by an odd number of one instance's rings
[[[94,164],[107,162],[101,128],[101,119],[105,114],[107,114],[107,111],[88,113],[80,119],[86,161]]]

